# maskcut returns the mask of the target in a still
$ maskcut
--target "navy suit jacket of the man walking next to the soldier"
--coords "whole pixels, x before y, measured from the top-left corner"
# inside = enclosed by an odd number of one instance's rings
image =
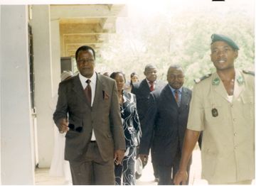
[[[146,114],[146,128],[142,133],[139,153],[149,154],[151,140],[158,165],[171,165],[178,148],[182,149],[183,137],[188,121],[191,90],[185,87],[181,92],[178,107],[169,84],[161,91],[151,92],[149,110]]]

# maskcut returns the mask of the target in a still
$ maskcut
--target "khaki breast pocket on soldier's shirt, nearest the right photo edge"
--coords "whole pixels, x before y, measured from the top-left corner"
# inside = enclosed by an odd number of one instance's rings
[[[254,104],[254,97],[252,96],[244,96],[241,97],[242,99],[242,112],[245,116],[245,119],[253,119],[255,114],[255,104]]]

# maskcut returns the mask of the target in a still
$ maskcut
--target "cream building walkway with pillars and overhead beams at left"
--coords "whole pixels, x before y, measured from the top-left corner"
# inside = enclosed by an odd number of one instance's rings
[[[35,168],[50,167],[60,74],[75,72],[78,46],[99,50],[125,13],[124,4],[0,5],[1,185],[34,185]]]

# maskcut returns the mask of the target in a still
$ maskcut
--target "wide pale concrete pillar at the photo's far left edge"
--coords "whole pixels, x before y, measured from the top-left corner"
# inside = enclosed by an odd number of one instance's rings
[[[28,9],[1,6],[1,184],[33,185]]]

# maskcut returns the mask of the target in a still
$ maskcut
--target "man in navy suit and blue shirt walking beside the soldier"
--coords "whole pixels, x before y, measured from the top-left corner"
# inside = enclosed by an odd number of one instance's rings
[[[191,101],[191,90],[183,87],[184,75],[180,66],[169,67],[167,81],[169,84],[149,96],[146,128],[139,146],[139,157],[144,159],[149,155],[153,140],[159,185],[174,185]]]

